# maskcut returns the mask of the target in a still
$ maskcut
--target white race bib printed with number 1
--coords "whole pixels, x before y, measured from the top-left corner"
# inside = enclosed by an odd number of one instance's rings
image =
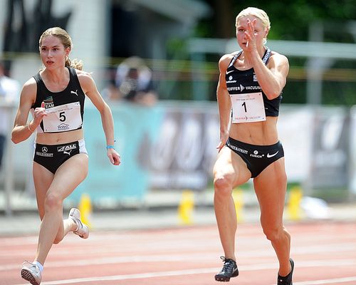
[[[266,120],[263,96],[258,93],[232,94],[232,123],[249,123]]]

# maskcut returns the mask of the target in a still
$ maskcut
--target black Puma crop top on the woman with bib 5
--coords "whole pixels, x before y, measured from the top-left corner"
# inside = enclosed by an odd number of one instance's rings
[[[45,103],[45,108],[52,108],[60,105],[66,105],[68,103],[79,102],[80,115],[83,122],[85,94],[80,86],[75,68],[67,68],[69,71],[69,83],[66,89],[60,92],[51,92],[48,90],[46,85],[43,83],[43,79],[41,78],[39,72],[36,74],[36,76],[33,76],[37,83],[37,93],[36,101],[31,106],[31,110],[33,111],[35,108],[41,107],[42,102]],[[41,131],[43,132],[43,122],[41,122],[40,127]],[[82,126],[77,128],[77,130],[81,128]],[[39,129],[38,132],[40,132]]]

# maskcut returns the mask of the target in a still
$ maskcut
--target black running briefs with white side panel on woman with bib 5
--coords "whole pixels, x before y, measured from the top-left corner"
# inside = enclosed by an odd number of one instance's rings
[[[88,153],[85,149],[84,140],[68,142],[62,145],[41,145],[35,143],[33,161],[55,174],[58,167],[63,165],[70,157],[79,153]]]

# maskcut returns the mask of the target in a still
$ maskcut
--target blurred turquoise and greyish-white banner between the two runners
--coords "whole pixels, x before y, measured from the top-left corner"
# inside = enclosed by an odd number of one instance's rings
[[[195,104],[197,105],[197,104]],[[85,108],[89,173],[69,199],[140,201],[148,190],[205,190],[219,142],[216,104],[112,105],[120,166],[110,165],[100,115]]]

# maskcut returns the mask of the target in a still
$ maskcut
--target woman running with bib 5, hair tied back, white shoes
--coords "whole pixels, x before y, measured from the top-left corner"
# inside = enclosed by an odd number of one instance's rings
[[[114,148],[114,123],[109,106],[98,92],[80,61],[70,62],[72,41],[62,28],[48,28],[39,40],[43,69],[30,78],[21,92],[11,140],[29,138],[36,130],[33,155],[33,182],[36,189],[41,228],[33,262],[23,262],[21,276],[33,285],[41,284],[41,273],[52,244],[68,232],[87,239],[88,227],[78,209],[70,209],[63,220],[63,200],[88,173],[88,153],[83,138],[84,100],[88,97],[101,115],[107,155],[120,165]],[[27,123],[28,114],[33,120]]]

